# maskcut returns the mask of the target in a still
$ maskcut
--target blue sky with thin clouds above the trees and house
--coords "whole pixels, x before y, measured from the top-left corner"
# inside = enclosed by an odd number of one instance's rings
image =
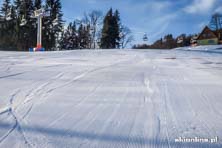
[[[64,19],[81,18],[90,10],[118,9],[122,23],[134,33],[134,43],[149,43],[165,34],[198,33],[214,12],[222,12],[222,0],[62,0]]]

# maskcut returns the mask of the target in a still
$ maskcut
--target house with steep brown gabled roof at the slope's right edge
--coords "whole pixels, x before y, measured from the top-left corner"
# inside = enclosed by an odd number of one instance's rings
[[[222,34],[221,31],[212,31],[206,26],[196,40],[198,45],[217,45],[222,43]]]

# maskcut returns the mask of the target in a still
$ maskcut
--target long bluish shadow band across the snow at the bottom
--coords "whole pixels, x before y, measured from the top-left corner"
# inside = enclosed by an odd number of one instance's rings
[[[13,124],[2,123],[0,122],[0,130],[11,130],[13,128]],[[139,136],[124,136],[124,135],[112,135],[112,134],[96,134],[91,132],[82,132],[82,131],[73,131],[73,130],[65,130],[65,129],[55,129],[55,128],[45,128],[38,126],[22,126],[22,130],[25,133],[35,133],[35,134],[43,134],[46,136],[51,136],[55,138],[76,138],[78,140],[97,140],[101,142],[111,142],[111,143],[121,143],[121,145],[127,146],[148,146],[148,147],[191,147],[191,148],[219,148],[221,147],[221,143],[211,144],[211,143],[176,143],[174,141],[168,141],[167,139],[147,139],[145,137]],[[0,140],[1,140],[0,135]],[[28,137],[27,137],[28,138]],[[177,138],[177,137],[175,137]]]

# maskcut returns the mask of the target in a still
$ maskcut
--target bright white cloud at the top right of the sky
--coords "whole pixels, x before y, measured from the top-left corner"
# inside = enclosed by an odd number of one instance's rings
[[[191,4],[184,8],[184,11],[191,14],[209,13],[216,0],[193,0]]]

